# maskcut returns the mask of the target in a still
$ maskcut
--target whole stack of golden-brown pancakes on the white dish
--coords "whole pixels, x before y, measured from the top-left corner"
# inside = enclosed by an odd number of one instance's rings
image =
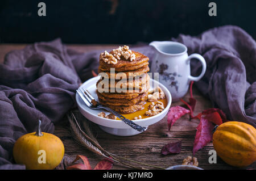
[[[109,53],[113,53],[112,51]],[[119,113],[142,110],[150,87],[150,77],[147,74],[148,57],[133,50],[131,52],[135,54],[133,61],[121,56],[116,64],[108,64],[100,56],[98,72],[101,79],[97,82],[98,99],[102,105]],[[114,73],[110,73],[110,69],[114,69]],[[104,77],[102,73],[108,76]],[[103,81],[109,82],[108,87]]]

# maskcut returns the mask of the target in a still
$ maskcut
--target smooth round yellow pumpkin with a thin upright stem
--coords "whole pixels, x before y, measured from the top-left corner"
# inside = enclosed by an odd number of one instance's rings
[[[64,145],[59,137],[41,132],[39,120],[38,131],[24,134],[14,144],[13,156],[18,164],[26,169],[55,169],[63,159]]]

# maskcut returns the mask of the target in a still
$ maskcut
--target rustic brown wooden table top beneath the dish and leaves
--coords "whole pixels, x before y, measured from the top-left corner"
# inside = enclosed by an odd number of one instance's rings
[[[7,52],[14,49],[22,49],[26,45],[24,44],[0,44],[0,63],[3,62],[3,58]],[[112,49],[117,45],[67,45],[68,48],[75,49],[80,52],[88,52],[95,49]],[[197,99],[197,105],[195,108],[195,114],[211,107],[210,101],[204,98],[195,87],[193,87],[194,96]],[[184,99],[188,100],[187,94]],[[171,106],[181,105],[181,102],[172,103]],[[189,116],[183,116],[178,120],[171,131],[168,132],[167,117],[158,123],[151,125],[146,132],[130,137],[119,137],[101,131],[97,125],[93,125],[94,133],[97,140],[105,150],[133,159],[135,161],[141,161],[150,165],[159,167],[170,167],[174,165],[180,165],[184,158],[192,156],[193,141],[196,134],[196,127],[199,124],[199,120],[189,120]],[[55,134],[59,136],[65,146],[65,155],[75,159],[77,154],[86,155],[88,157],[92,167],[94,167],[98,161],[102,159],[99,155],[96,155],[89,150],[77,145],[69,134],[69,126],[67,118],[64,117],[61,124],[56,125]],[[172,141],[182,140],[182,148],[179,154],[162,155],[162,147]],[[227,165],[221,158],[217,157],[217,163],[210,164],[209,150],[213,149],[212,143],[205,146],[205,148],[197,151],[195,157],[199,161],[199,167],[203,169],[235,169],[232,166]],[[140,166],[134,164],[134,166]],[[115,163],[113,169],[127,169],[119,163]],[[256,162],[248,166],[246,169],[256,169]]]

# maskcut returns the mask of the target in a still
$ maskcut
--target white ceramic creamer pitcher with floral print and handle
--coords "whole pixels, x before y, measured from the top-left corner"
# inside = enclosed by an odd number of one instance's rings
[[[187,93],[191,81],[199,81],[204,76],[207,68],[204,57],[197,53],[188,56],[185,45],[175,41],[152,41],[149,45],[155,48],[150,71],[159,73],[159,82],[171,92],[173,101]],[[203,65],[198,77],[190,74],[191,58],[196,58]]]

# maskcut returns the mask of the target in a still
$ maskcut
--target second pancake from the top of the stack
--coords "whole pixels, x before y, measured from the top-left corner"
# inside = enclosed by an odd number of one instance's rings
[[[111,78],[114,77],[115,79],[121,79],[121,78],[122,78],[121,76],[126,76],[127,78],[129,78],[131,75],[132,75],[133,77],[140,76],[140,75],[142,75],[142,74],[147,73],[149,70],[150,70],[150,68],[148,67],[148,65],[146,65],[146,66],[142,66],[141,68],[136,69],[136,70],[133,70],[133,71],[115,72],[114,75],[113,75],[113,74],[110,74],[110,71],[102,71],[102,70],[100,69],[100,66],[99,66],[99,68],[98,68],[98,73],[104,72],[104,73],[108,74],[108,77],[109,77],[109,78],[110,78],[110,77],[111,77]],[[129,75],[129,73],[133,73],[133,74],[130,74],[130,75]],[[117,74],[118,74],[118,76],[117,76]],[[122,75],[122,74],[123,74],[123,75]]]

